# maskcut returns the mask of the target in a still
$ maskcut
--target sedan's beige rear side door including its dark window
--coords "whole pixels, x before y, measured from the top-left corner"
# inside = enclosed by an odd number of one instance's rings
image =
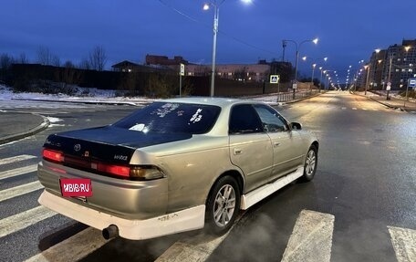
[[[244,193],[267,183],[273,169],[273,147],[253,105],[232,108],[229,139],[231,162],[244,172]]]

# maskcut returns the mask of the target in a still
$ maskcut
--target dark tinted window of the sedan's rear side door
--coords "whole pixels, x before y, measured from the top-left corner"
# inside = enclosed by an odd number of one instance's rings
[[[255,109],[250,104],[235,105],[231,110],[229,132],[230,133],[251,133],[263,131]]]

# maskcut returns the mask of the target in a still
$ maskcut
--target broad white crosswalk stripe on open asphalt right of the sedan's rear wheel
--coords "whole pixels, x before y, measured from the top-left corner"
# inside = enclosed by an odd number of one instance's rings
[[[302,210],[297,217],[282,262],[329,262],[334,220],[334,215]]]

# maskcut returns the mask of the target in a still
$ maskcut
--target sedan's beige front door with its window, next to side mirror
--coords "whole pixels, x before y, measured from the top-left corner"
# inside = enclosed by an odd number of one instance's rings
[[[273,169],[270,180],[292,173],[302,164],[303,148],[298,131],[292,131],[288,122],[273,108],[255,105],[265,132],[269,135],[273,146]]]

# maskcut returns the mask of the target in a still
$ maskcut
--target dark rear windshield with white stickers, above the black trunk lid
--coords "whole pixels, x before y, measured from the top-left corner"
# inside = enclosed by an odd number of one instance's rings
[[[113,126],[131,131],[201,134],[213,128],[220,110],[212,105],[154,102]]]

